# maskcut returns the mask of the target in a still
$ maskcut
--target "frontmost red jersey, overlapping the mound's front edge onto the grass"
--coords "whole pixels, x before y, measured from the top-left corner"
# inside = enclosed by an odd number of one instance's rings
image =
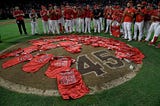
[[[78,99],[89,89],[82,80],[82,76],[75,68],[66,68],[57,75],[58,90],[63,99]]]

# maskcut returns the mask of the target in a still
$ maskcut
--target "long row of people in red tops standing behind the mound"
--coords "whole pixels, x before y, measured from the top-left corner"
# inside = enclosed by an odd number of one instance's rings
[[[16,18],[20,34],[22,34],[19,24],[23,20],[24,13],[22,10],[16,9],[13,16]],[[102,9],[97,4],[93,8],[90,5],[85,7],[70,6],[66,3],[65,6],[58,7],[49,4],[48,10],[45,6],[41,6],[40,16],[44,34],[91,33],[93,22],[94,33],[104,31],[116,37],[122,35],[128,41],[150,41],[154,32],[154,36],[149,43],[153,45],[160,35],[160,2],[157,8],[153,8],[152,4],[144,1],[136,6],[133,6],[133,2],[129,1],[124,9],[119,5],[106,5]],[[32,35],[34,35],[38,33],[38,16],[34,9],[31,10],[29,17],[31,19]],[[24,33],[27,33],[23,22],[22,28]],[[134,32],[133,36],[132,32]]]

